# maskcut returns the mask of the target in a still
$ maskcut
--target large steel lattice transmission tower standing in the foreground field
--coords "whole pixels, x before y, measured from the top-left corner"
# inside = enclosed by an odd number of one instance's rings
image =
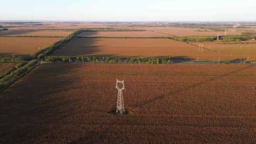
[[[122,84],[122,88],[119,88],[118,83]],[[120,114],[123,114],[123,113],[125,113],[124,98],[123,98],[123,90],[125,90],[124,80],[119,81],[117,79],[116,88],[118,90],[118,101],[117,101],[117,111],[116,111],[116,113],[118,113],[118,111],[119,111]]]

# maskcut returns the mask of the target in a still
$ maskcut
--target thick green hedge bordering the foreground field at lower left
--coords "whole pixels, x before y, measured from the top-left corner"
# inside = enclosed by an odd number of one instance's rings
[[[5,90],[10,84],[17,81],[27,72],[32,70],[37,66],[38,61],[32,60],[31,62],[27,63],[25,66],[19,67],[18,69],[10,72],[8,75],[4,76],[0,79],[0,91]]]

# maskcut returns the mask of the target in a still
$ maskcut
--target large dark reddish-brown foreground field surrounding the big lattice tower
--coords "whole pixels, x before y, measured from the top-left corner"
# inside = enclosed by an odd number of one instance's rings
[[[0,143],[254,144],[256,66],[39,65],[0,95]],[[114,115],[116,79],[128,115]]]

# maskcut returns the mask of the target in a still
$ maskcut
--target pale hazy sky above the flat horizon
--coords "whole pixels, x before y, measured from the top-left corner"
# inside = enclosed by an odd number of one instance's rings
[[[0,20],[256,21],[256,0],[2,0]]]

